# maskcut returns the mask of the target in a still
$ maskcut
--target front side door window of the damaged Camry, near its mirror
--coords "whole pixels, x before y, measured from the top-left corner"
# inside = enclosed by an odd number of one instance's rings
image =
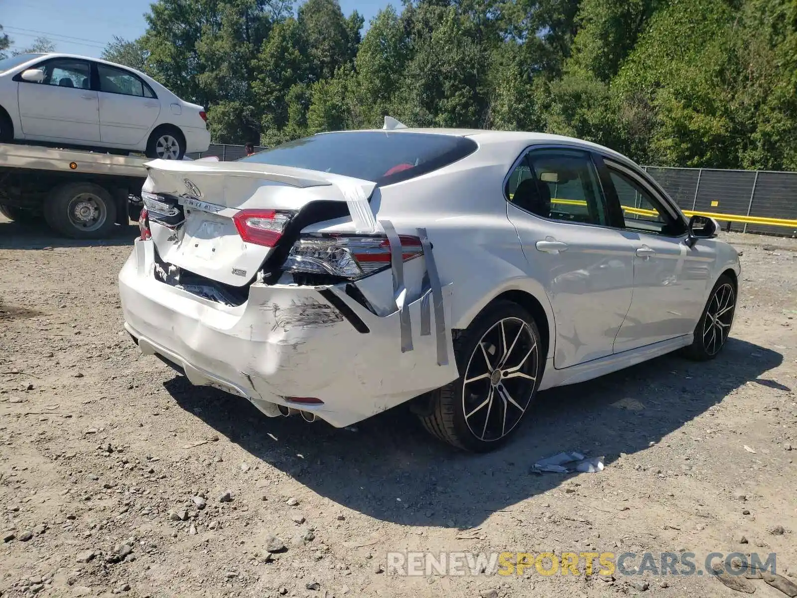
[[[641,233],[679,234],[681,226],[641,183],[611,167],[609,177],[620,201],[626,229]]]

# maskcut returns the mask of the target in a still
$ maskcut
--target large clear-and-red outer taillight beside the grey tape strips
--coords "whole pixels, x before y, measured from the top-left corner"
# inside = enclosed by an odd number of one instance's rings
[[[423,254],[418,237],[399,236],[404,261]],[[289,272],[332,274],[355,280],[391,265],[391,245],[384,236],[328,234],[297,241],[285,260]]]

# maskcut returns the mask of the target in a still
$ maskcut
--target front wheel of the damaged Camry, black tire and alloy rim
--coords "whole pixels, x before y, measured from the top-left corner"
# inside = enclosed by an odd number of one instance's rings
[[[695,361],[713,360],[719,355],[731,332],[734,313],[736,286],[728,275],[723,274],[711,289],[709,301],[695,326],[694,340],[684,349],[684,355]]]

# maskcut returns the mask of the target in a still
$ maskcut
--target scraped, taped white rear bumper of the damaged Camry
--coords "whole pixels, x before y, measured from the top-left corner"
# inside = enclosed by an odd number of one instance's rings
[[[323,403],[301,408],[343,427],[457,378],[450,330],[430,333],[438,327],[429,293],[405,304],[413,348],[402,352],[400,313],[379,317],[342,285],[255,283],[248,301],[230,307],[155,280],[153,265],[152,242],[137,240],[119,277],[125,328],[142,352],[266,415],[296,407],[286,397],[313,397]],[[450,286],[442,303],[450,322]],[[451,356],[442,365],[438,338]]]

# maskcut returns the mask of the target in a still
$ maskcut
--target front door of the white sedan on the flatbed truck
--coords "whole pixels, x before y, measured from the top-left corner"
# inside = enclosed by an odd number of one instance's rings
[[[25,138],[78,144],[99,141],[100,112],[88,61],[52,58],[33,68],[44,73],[40,83],[14,77],[19,81],[19,116]]]

